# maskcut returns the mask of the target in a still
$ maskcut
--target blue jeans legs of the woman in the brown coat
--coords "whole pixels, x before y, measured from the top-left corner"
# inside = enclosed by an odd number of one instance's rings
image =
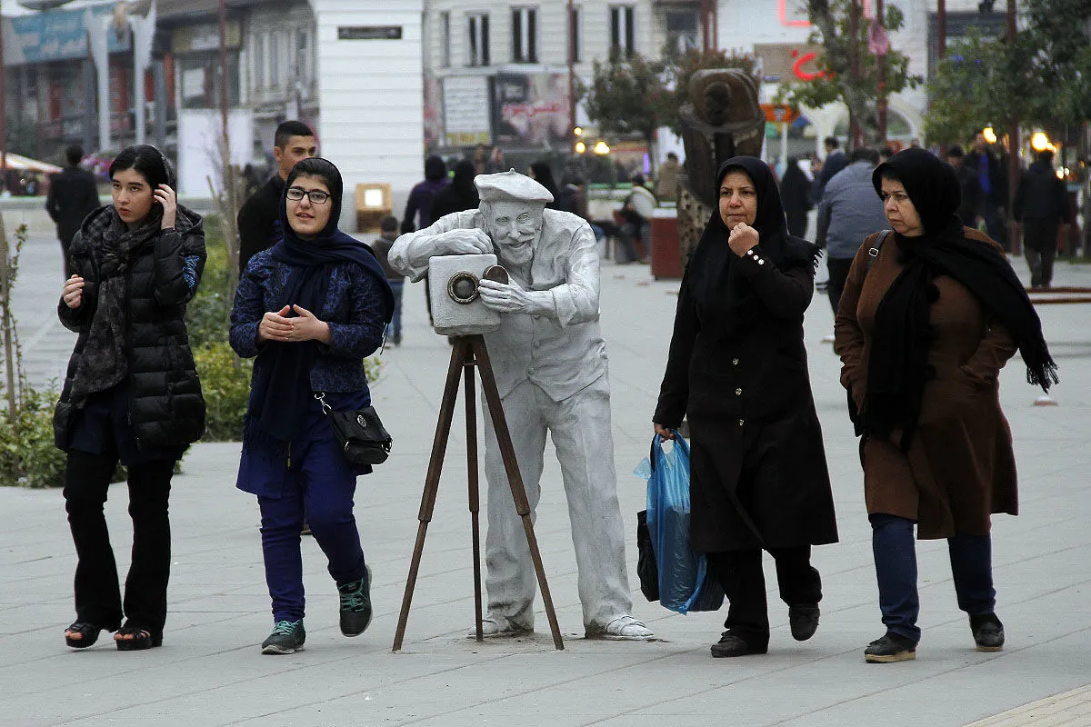
[[[879,610],[888,631],[921,640],[916,618],[921,601],[916,593],[916,544],[912,520],[877,513],[872,523],[872,550],[879,586]],[[956,533],[947,538],[951,575],[958,607],[970,616],[992,614],[996,608],[993,587],[993,541],[990,535]]]

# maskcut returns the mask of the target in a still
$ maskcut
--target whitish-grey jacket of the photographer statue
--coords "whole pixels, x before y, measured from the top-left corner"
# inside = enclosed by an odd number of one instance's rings
[[[430,257],[452,253],[444,245],[445,232],[472,228],[485,229],[476,209],[447,215],[431,227],[404,234],[391,247],[391,266],[418,281],[428,272]],[[503,251],[496,254],[503,263]],[[553,306],[542,315],[502,314],[500,329],[484,335],[500,396],[529,380],[553,401],[562,401],[603,376],[607,352],[599,329],[599,256],[587,222],[571,213],[546,209],[530,280],[509,274],[525,289],[550,291]]]

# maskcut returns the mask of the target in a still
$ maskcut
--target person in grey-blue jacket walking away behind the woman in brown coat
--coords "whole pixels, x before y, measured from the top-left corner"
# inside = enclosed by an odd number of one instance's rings
[[[854,150],[852,163],[829,181],[822,204],[818,205],[815,244],[824,247],[828,255],[827,293],[835,315],[856,251],[867,235],[887,227],[883,202],[875,196],[875,189],[872,186],[872,171],[878,158],[879,155],[874,149]]]

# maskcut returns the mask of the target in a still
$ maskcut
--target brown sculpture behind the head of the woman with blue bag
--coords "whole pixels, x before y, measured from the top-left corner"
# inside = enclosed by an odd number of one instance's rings
[[[697,71],[688,92],[690,100],[679,111],[685,145],[678,202],[683,266],[716,208],[716,170],[731,157],[760,156],[765,131],[757,84],[745,71]]]

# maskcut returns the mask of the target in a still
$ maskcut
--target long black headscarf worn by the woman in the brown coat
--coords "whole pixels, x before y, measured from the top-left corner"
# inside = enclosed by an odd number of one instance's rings
[[[1042,337],[1042,322],[1007,258],[990,244],[968,240],[956,211],[961,204],[958,173],[924,149],[899,152],[872,174],[876,192],[883,178],[897,179],[921,216],[924,234],[895,235],[902,271],[875,313],[875,337],[867,360],[864,431],[889,435],[901,427],[908,449],[921,414],[931,372],[932,303],[939,295],[933,279],[949,276],[966,286],[1015,338],[1027,363],[1027,380],[1048,391],[1057,365]]]

